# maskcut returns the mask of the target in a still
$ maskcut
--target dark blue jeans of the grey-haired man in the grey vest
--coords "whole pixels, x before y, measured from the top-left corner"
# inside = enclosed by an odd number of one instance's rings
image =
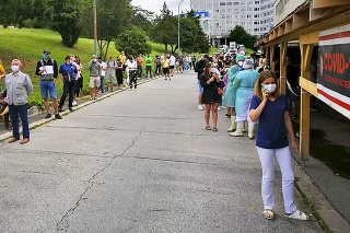
[[[23,138],[30,138],[30,121],[28,121],[27,104],[9,105],[9,114],[10,114],[11,124],[12,124],[13,138],[20,139],[19,115],[22,121]]]

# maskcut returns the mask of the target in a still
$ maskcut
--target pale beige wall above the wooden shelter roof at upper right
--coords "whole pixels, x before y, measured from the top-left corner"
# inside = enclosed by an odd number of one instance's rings
[[[288,15],[290,15],[296,8],[307,0],[277,0],[275,2],[275,21],[273,26],[279,24]]]

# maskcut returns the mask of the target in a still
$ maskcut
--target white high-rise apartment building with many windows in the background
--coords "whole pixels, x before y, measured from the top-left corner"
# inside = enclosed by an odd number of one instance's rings
[[[228,44],[231,30],[241,25],[250,35],[261,36],[273,26],[275,0],[191,0],[194,11],[208,12],[201,18],[212,45]]]

